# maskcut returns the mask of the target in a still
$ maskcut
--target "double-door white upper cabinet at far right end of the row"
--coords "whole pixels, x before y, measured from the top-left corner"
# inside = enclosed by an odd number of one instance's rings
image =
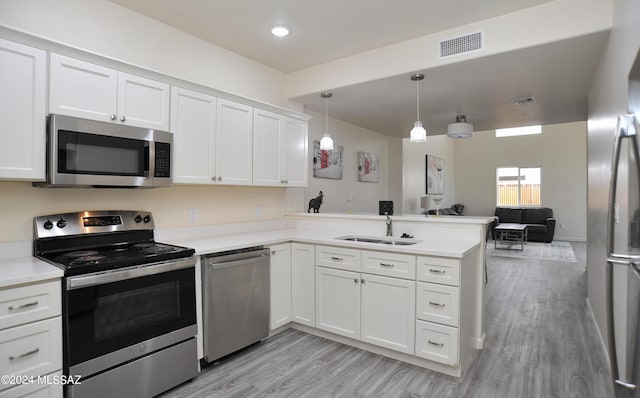
[[[255,109],[253,184],[307,185],[307,122]]]

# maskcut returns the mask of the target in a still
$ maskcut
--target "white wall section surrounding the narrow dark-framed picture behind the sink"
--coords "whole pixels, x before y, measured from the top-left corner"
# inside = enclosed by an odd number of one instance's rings
[[[426,142],[402,140],[404,214],[424,214],[420,208],[420,198],[426,196],[426,155],[437,156],[444,160],[444,190],[440,208],[451,207],[455,200],[454,180],[456,176],[453,153],[453,140],[446,135],[429,136]],[[429,209],[435,204],[429,200]]]

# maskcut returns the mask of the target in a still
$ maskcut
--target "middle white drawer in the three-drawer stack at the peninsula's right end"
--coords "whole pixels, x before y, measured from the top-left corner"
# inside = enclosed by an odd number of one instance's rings
[[[418,282],[416,318],[459,326],[460,288]]]

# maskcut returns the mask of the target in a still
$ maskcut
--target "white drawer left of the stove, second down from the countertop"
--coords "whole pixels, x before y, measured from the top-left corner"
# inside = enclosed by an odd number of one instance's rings
[[[16,326],[0,332],[0,369],[3,375],[38,376],[62,368],[60,317]],[[5,389],[10,385],[0,385]]]

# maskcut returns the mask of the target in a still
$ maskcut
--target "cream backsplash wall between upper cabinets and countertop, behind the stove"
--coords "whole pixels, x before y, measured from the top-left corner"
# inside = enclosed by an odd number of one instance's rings
[[[0,219],[10,226],[0,230],[0,242],[32,240],[35,216],[84,210],[151,211],[158,229],[277,220],[284,215],[285,194],[282,188],[33,188],[28,182],[0,181]],[[193,222],[190,208],[197,212]]]

